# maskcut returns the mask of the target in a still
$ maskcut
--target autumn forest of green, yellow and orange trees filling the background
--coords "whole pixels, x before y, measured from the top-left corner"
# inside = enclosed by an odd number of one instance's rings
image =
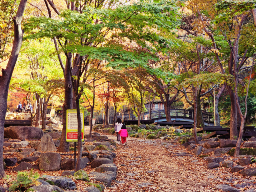
[[[0,134],[6,111],[37,103],[35,126],[41,115],[45,128],[55,108],[67,152],[66,109],[85,109],[91,126],[117,112],[140,123],[146,104],[161,101],[167,121],[170,108],[194,109],[194,133],[215,105],[216,125],[237,139],[237,126],[256,123],[255,8],[253,0],[0,0]]]

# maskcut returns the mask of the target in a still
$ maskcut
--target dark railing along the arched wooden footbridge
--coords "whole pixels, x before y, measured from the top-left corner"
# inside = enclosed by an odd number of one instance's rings
[[[145,119],[146,115],[148,115],[149,119],[149,112],[144,113],[142,119]],[[213,116],[210,114],[202,113],[203,119],[205,122],[214,122]],[[194,119],[194,110],[186,110],[186,109],[170,109],[170,116],[175,118],[184,118],[184,119]],[[122,118],[122,115],[118,114],[118,118]],[[165,110],[157,110],[151,112],[152,120],[161,119],[166,117]],[[129,119],[128,114],[124,114],[124,119]],[[133,114],[130,115],[131,120],[137,120],[138,118]]]

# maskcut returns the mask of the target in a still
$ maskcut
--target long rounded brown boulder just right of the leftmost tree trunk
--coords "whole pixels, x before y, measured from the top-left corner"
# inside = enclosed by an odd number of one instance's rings
[[[44,135],[42,129],[32,126],[10,126],[4,128],[4,137],[12,139],[40,139]]]

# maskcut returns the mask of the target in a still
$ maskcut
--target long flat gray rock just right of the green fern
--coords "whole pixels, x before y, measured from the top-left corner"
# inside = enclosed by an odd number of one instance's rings
[[[75,182],[68,177],[43,175],[42,178],[46,181],[50,180],[54,182],[54,185],[62,189],[74,190],[76,188]]]

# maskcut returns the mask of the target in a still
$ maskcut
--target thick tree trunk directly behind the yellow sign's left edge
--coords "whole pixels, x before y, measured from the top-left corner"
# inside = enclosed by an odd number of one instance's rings
[[[72,57],[72,54],[68,54],[69,57]],[[71,59],[70,59],[71,61]],[[62,134],[61,134],[61,138],[60,138],[60,146],[58,151],[59,152],[69,152],[69,142],[66,142],[66,118],[67,118],[67,114],[66,114],[66,110],[67,109],[72,109],[73,108],[73,88],[72,88],[72,82],[71,82],[71,76],[70,76],[70,72],[69,72],[69,66],[71,66],[71,62],[69,62],[68,58],[66,59],[66,66],[65,66],[65,99],[64,99],[64,104],[63,104],[63,115],[62,115],[62,119],[63,119],[63,128],[62,128]]]

